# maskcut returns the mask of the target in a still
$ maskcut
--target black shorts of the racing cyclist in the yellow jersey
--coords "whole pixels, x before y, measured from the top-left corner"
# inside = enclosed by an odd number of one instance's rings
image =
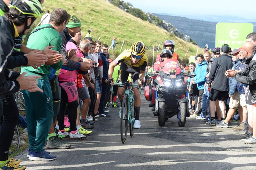
[[[141,66],[131,67],[124,62],[121,62],[120,71],[118,74],[118,82],[127,82],[128,76],[132,73],[132,83],[138,84],[138,79],[140,78]],[[122,86],[121,86],[122,87]]]

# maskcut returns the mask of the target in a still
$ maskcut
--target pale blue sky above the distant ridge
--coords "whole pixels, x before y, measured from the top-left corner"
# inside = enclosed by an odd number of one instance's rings
[[[255,20],[255,0],[124,0],[150,13],[193,15],[231,15]]]

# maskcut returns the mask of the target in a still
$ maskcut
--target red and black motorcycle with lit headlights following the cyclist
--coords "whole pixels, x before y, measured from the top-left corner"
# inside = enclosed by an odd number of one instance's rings
[[[188,81],[185,78],[195,77],[195,74],[185,74],[177,65],[177,60],[167,59],[161,62],[161,71],[149,73],[154,80],[154,87],[149,87],[151,101],[155,100],[155,116],[158,116],[159,126],[164,126],[165,122],[177,115],[178,124],[184,127],[186,117],[189,117],[189,103],[185,97]],[[148,94],[150,94],[148,93]],[[155,93],[153,95],[153,93]],[[145,97],[147,92],[145,90]],[[155,96],[155,98],[154,98]],[[146,97],[146,99],[150,99]],[[153,102],[152,102],[153,103]]]

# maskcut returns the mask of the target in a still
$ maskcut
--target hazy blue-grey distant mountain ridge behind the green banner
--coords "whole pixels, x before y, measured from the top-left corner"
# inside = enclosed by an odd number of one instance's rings
[[[197,45],[204,48],[205,44],[209,44],[209,48],[213,49],[215,47],[215,30],[217,22],[209,22],[205,20],[189,19],[187,17],[180,16],[170,16],[167,14],[154,14],[162,20],[165,20],[173,24],[180,33],[190,36],[193,40],[197,42]],[[227,16],[226,16],[227,17]],[[225,19],[226,17],[223,17]],[[202,17],[201,17],[202,18]],[[226,20],[226,22],[230,22]],[[241,17],[237,20],[243,19]],[[222,20],[221,22],[225,22]],[[247,21],[245,21],[247,22]],[[254,25],[254,32],[256,32],[256,22],[250,22]]]

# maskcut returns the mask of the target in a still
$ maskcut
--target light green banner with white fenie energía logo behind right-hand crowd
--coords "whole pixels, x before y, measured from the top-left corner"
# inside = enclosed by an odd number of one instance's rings
[[[228,44],[233,50],[242,47],[246,42],[246,36],[253,32],[251,23],[217,23],[215,35],[215,47]]]

